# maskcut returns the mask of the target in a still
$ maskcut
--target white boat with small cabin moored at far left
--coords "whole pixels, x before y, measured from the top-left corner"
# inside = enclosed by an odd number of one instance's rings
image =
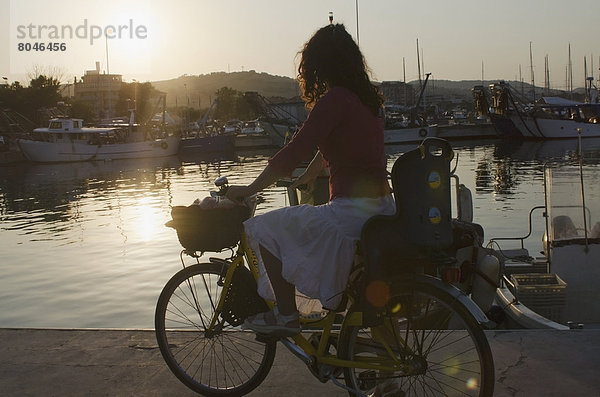
[[[84,127],[82,119],[59,117],[17,141],[23,155],[44,163],[165,157],[177,153],[180,137],[156,134],[137,124]]]

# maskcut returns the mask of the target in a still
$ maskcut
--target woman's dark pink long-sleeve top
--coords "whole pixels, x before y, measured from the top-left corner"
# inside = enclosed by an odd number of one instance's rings
[[[302,128],[269,165],[286,175],[318,149],[329,167],[329,198],[379,197],[389,193],[383,120],[347,88],[331,88]]]

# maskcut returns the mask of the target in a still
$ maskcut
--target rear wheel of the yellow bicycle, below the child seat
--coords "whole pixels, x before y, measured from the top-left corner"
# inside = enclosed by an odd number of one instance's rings
[[[492,396],[492,353],[481,326],[462,303],[446,291],[411,281],[393,286],[385,310],[384,325],[342,328],[339,357],[375,362],[387,358],[390,364],[393,356],[406,368],[345,368],[347,386],[367,395],[378,384],[387,384],[386,390],[403,396]]]

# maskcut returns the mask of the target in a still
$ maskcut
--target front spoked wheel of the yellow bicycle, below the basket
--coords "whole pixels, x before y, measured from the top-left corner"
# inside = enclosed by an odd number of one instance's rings
[[[156,339],[163,358],[181,382],[205,396],[249,393],[275,358],[276,342],[259,342],[253,332],[232,326],[221,315],[217,326],[207,330],[227,268],[203,263],[179,271],[156,305]]]

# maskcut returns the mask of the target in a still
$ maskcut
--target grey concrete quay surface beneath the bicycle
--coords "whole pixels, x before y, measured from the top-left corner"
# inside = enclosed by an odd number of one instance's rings
[[[600,396],[600,330],[488,331],[495,396]],[[194,396],[152,330],[0,329],[1,396]],[[347,396],[278,345],[250,396]]]

